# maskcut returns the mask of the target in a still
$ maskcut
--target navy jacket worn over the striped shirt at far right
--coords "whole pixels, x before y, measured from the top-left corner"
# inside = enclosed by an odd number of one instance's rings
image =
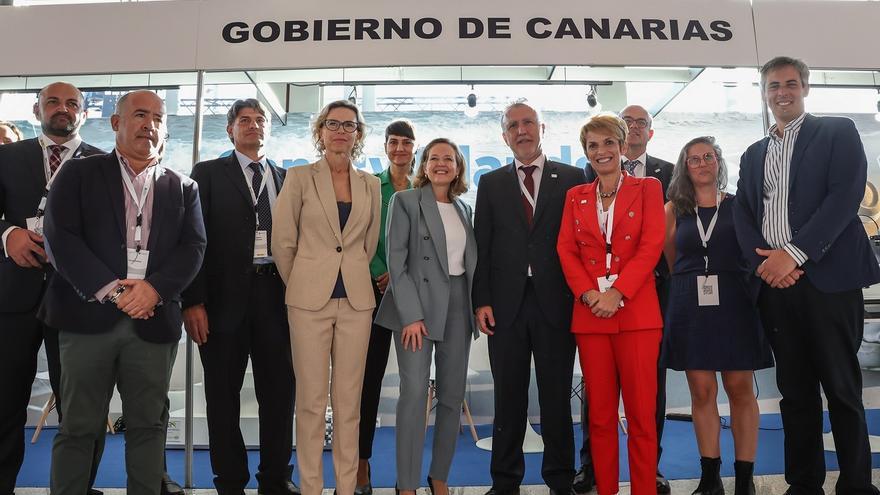
[[[752,144],[740,159],[734,221],[752,274],[769,249],[761,233],[764,216],[764,159],[769,137]],[[807,115],[789,171],[788,219],[792,244],[809,260],[801,267],[822,292],[841,292],[880,281],[880,268],[858,218],[868,163],[855,124],[842,117]]]

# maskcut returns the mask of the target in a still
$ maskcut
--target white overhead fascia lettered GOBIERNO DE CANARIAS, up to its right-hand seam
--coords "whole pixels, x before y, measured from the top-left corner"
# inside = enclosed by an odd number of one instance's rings
[[[0,76],[411,65],[754,66],[748,0],[0,7]]]

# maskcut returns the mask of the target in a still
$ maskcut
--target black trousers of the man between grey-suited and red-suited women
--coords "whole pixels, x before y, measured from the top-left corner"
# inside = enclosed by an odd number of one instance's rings
[[[574,431],[571,423],[571,378],[574,337],[569,328],[547,322],[534,285],[526,284],[514,323],[495,327],[489,337],[489,363],[495,381],[492,432],[492,487],[518,487],[525,472],[522,443],[529,407],[531,359],[535,359],[544,459],[541,476],[550,488],[568,493],[574,478]]]

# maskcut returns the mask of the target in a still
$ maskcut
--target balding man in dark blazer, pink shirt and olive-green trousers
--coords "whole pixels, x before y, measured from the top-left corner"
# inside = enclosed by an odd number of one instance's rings
[[[114,385],[126,422],[127,492],[160,492],[180,293],[205,249],[198,187],[159,164],[164,102],[128,93],[111,124],[115,151],[67,163],[46,207],[46,252],[58,273],[39,317],[60,330],[64,421],[50,486],[62,495],[88,488]]]

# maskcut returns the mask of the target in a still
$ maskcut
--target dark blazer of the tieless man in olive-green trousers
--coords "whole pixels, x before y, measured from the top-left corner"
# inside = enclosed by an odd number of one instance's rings
[[[119,160],[115,152],[71,160],[58,174],[43,227],[58,273],[49,283],[39,316],[62,331],[108,332],[128,316],[113,304],[90,300],[127,272]],[[164,304],[152,318],[134,324],[143,340],[171,343],[180,339],[180,293],[192,282],[205,253],[205,226],[198,186],[188,177],[163,169],[153,194],[146,280]]]

